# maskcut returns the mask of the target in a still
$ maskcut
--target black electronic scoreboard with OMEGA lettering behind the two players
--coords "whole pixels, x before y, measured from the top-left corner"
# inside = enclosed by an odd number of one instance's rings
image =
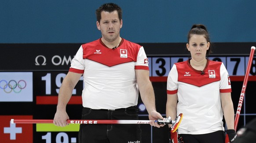
[[[241,93],[250,47],[254,43],[217,43],[208,58],[223,62],[230,76],[234,111]],[[53,119],[59,88],[71,60],[81,44],[0,44],[0,142],[78,143],[79,125],[10,124],[11,119]],[[149,59],[157,111],[165,116],[166,81],[172,65],[189,59],[186,43],[141,43]],[[219,49],[217,49],[217,47]],[[221,48],[221,49],[220,49]],[[253,58],[238,129],[256,118],[254,85],[256,57]],[[83,79],[73,90],[66,111],[80,119]],[[148,119],[139,99],[139,118]],[[168,127],[141,125],[144,143],[168,143]]]

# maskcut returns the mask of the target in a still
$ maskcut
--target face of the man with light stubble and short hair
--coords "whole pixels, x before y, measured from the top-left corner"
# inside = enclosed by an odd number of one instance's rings
[[[113,12],[101,12],[101,20],[97,21],[97,28],[101,31],[103,40],[113,42],[120,37],[120,29],[123,21],[119,20],[117,10]]]

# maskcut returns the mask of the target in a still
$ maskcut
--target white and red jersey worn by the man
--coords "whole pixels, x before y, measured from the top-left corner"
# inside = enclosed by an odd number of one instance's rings
[[[135,70],[149,70],[144,48],[123,38],[116,49],[106,47],[101,38],[81,45],[69,69],[83,73],[83,106],[92,109],[137,105]]]

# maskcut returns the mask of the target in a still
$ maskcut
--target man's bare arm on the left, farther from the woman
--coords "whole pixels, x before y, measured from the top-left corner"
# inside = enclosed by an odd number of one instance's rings
[[[72,91],[81,76],[81,73],[68,72],[64,78],[59,90],[57,111],[53,121],[56,126],[66,126],[66,120],[69,119],[66,112],[66,105],[68,104],[69,99],[72,96]]]

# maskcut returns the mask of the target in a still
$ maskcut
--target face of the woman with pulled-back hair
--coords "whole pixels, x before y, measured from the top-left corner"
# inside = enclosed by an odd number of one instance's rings
[[[210,42],[206,41],[205,35],[192,35],[189,43],[187,43],[187,49],[190,51],[191,58],[197,61],[206,58],[206,51],[210,47]]]

